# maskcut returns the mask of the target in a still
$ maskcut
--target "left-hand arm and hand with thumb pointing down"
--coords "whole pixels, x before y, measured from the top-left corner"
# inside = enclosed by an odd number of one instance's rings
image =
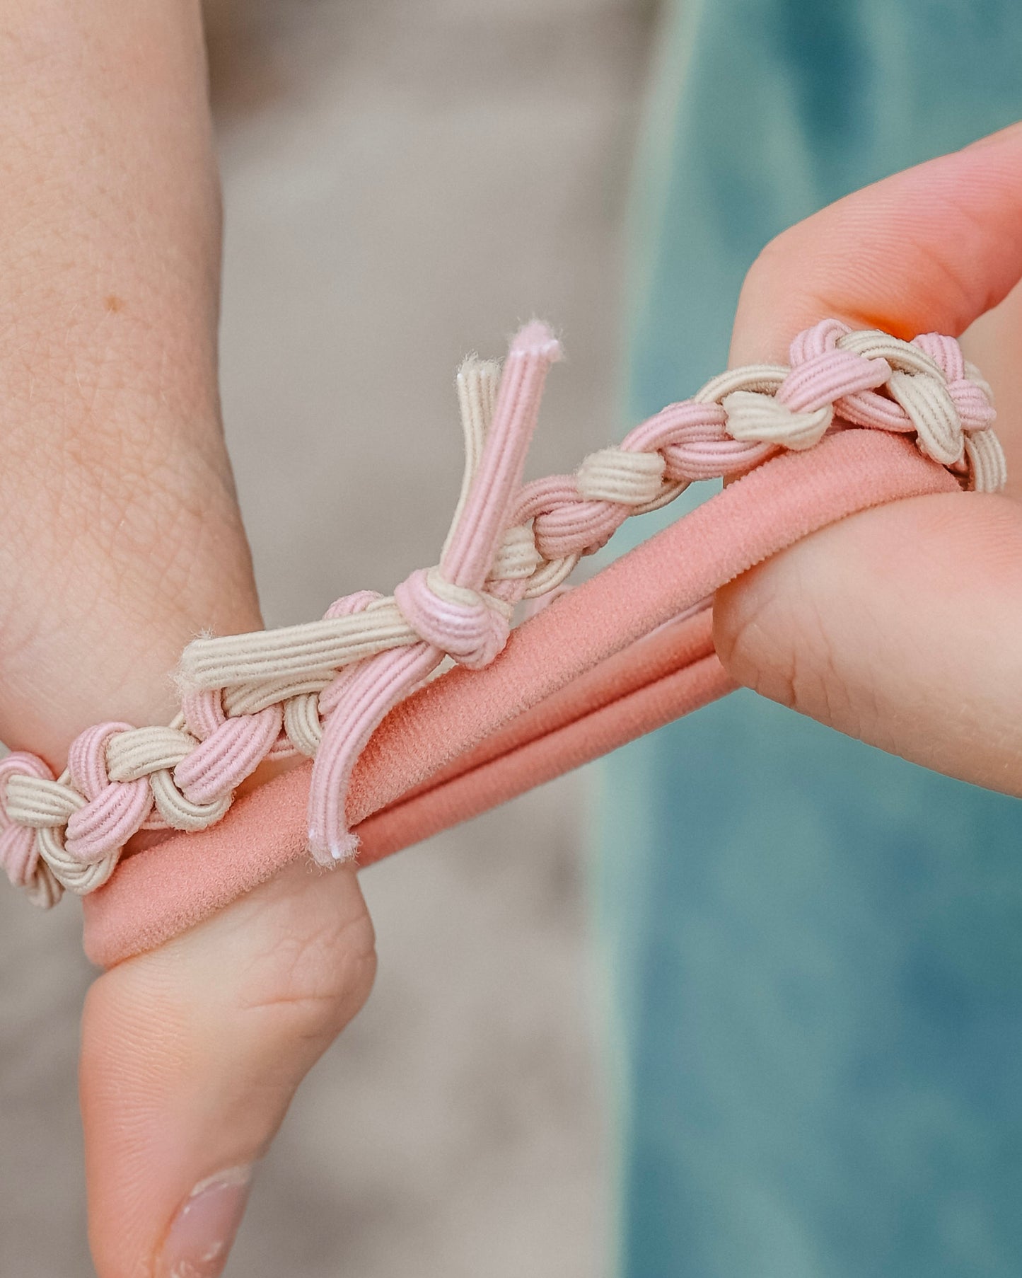
[[[10,0],[0,37],[0,739],[60,771],[91,723],[167,721],[201,629],[261,622],[218,422],[197,0]],[[355,875],[296,868],[96,982],[100,1278],[220,1273],[238,1169],[372,976]]]

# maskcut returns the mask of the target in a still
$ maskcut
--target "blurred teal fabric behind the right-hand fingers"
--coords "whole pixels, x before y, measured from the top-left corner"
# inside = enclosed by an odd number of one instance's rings
[[[637,179],[629,419],[724,366],[775,233],[1019,116],[1019,0],[675,10]],[[600,780],[618,1272],[1017,1278],[1022,805],[747,693]]]

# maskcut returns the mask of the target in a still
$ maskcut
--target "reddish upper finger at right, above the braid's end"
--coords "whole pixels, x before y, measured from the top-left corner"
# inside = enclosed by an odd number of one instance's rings
[[[732,363],[786,360],[821,316],[958,336],[1022,277],[1022,123],[853,192],[783,231],[742,286]]]

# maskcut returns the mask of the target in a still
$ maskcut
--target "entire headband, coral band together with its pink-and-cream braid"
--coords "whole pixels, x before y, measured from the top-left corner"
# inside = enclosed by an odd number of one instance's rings
[[[789,368],[723,373],[574,475],[522,487],[558,355],[531,323],[500,381],[493,364],[462,367],[465,482],[436,567],[390,598],[339,599],[318,622],[194,640],[178,718],[89,728],[59,778],[29,754],[0,763],[0,859],[42,905],[65,887],[96,893],[97,961],[190,925],[281,856],[310,847],[328,865],[362,841],[364,864],[721,695],[708,613],[680,613],[852,510],[1004,482],[990,390],[956,341],[828,320],[795,339]],[[557,593],[629,515],[719,475],[746,478],[508,642],[515,606]],[[461,668],[420,686],[445,657]],[[313,763],[227,815],[240,782],[289,754]],[[125,859],[107,883],[139,829],[188,837]]]

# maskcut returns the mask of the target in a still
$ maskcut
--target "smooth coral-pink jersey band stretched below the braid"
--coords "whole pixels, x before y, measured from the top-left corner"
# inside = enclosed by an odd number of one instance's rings
[[[908,438],[861,429],[735,482],[525,622],[484,670],[456,668],[391,711],[349,791],[360,864],[724,695],[709,610],[681,616],[827,524],[957,491]],[[305,855],[309,780],[309,764],[295,768],[218,824],[124,860],[84,900],[89,958],[112,966],[151,950]]]

